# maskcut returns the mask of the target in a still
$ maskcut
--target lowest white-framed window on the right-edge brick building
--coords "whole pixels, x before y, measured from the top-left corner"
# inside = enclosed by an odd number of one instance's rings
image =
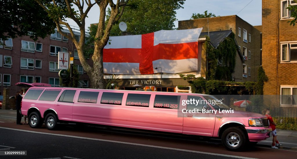
[[[284,106],[297,106],[297,86],[280,86],[280,103]]]

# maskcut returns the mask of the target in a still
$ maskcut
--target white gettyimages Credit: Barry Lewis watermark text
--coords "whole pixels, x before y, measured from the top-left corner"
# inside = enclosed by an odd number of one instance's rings
[[[185,105],[206,105],[206,107],[208,107],[207,105],[210,104],[212,106],[215,106],[215,105],[222,105],[223,102],[222,100],[205,100],[205,99],[190,99],[190,100],[182,100],[181,101],[181,105],[185,106]],[[182,109],[182,112],[183,113],[215,113],[217,114],[217,111],[219,111],[219,113],[234,113],[234,110],[232,110],[230,108],[230,110],[226,110],[226,109],[220,109],[219,110],[212,110],[212,109],[207,109],[207,108],[202,108],[201,110],[198,109],[198,108],[194,108],[192,110],[187,110],[187,109]]]

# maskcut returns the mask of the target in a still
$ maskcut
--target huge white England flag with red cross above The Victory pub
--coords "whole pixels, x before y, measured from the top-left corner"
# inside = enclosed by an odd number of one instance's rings
[[[198,70],[202,28],[160,30],[143,35],[110,36],[103,49],[104,73],[153,74]],[[201,49],[199,47],[199,49]]]

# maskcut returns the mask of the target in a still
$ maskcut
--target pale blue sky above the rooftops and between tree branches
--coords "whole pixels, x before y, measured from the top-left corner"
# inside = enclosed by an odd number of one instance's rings
[[[183,7],[176,11],[178,20],[189,20],[193,13],[203,14],[207,10],[216,16],[238,15],[251,25],[262,25],[262,0],[186,0]],[[86,28],[98,20],[99,7],[94,5],[86,18]],[[176,28],[178,20],[174,22]],[[77,26],[71,20],[68,23]]]

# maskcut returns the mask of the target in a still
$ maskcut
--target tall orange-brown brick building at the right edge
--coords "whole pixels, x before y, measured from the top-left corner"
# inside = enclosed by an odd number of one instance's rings
[[[274,105],[296,107],[297,26],[286,7],[293,0],[262,0],[262,65],[269,78],[265,95],[281,95]]]

